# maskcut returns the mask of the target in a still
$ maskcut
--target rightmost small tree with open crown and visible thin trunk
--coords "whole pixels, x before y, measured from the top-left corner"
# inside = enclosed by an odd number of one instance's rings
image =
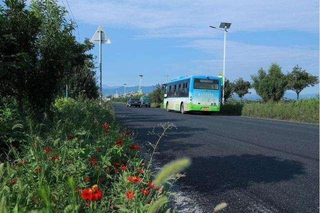
[[[307,73],[304,69],[298,65],[292,68],[292,71],[287,75],[287,88],[295,91],[296,99],[299,99],[299,93],[308,86],[314,86],[317,84],[318,77]]]

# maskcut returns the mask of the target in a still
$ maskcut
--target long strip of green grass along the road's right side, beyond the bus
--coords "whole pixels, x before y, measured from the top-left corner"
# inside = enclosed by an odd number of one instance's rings
[[[279,102],[232,101],[222,107],[221,113],[319,123],[319,99]]]

